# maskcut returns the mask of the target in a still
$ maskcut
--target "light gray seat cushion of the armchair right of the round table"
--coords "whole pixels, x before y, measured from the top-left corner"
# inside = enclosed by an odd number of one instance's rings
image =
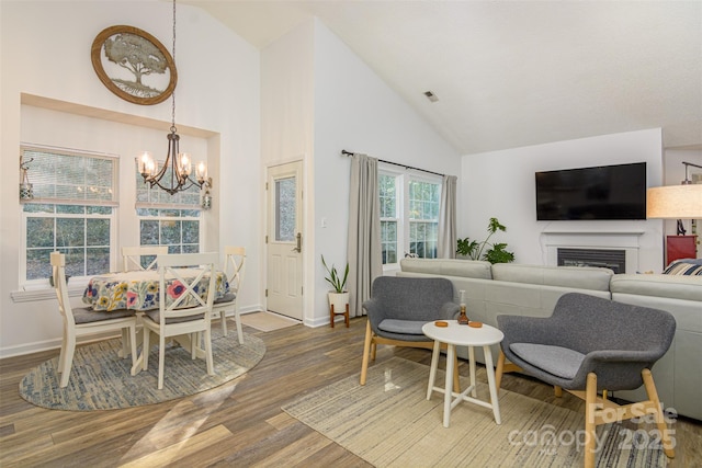
[[[573,379],[585,359],[585,354],[562,346],[535,343],[512,343],[512,353],[531,365],[555,376]]]

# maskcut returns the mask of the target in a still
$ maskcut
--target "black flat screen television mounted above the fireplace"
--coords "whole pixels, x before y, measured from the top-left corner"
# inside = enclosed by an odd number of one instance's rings
[[[646,219],[646,163],[536,172],[536,219]]]

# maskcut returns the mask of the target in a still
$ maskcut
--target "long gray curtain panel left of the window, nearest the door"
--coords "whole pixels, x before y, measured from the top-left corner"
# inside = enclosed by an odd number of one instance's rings
[[[383,274],[377,159],[351,155],[349,192],[349,312],[359,317],[363,301],[371,297],[373,279]]]

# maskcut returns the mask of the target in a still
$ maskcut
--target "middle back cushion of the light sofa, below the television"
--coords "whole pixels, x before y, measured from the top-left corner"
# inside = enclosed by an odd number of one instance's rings
[[[492,265],[492,279],[574,289],[610,290],[610,279],[613,275],[614,272],[610,269],[590,266],[543,266],[518,263]]]

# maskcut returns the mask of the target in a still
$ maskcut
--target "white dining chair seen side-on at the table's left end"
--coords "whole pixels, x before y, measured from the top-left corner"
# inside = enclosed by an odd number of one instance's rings
[[[136,363],[135,311],[126,309],[95,311],[92,308],[72,308],[66,284],[66,255],[52,252],[50,262],[58,310],[64,319],[64,338],[58,356],[59,386],[66,387],[68,385],[77,338],[109,331],[122,331],[122,356],[132,355],[132,375],[134,375],[134,364]]]

